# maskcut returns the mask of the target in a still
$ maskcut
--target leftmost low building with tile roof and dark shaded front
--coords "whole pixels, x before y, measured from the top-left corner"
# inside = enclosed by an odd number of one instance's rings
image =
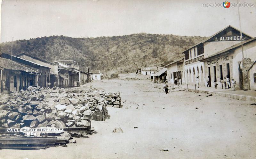
[[[36,68],[25,67],[15,61],[5,57],[0,58],[0,76],[1,83],[4,80],[5,89],[3,91],[20,91],[26,90],[29,86],[36,86],[36,79],[38,79],[38,72]]]

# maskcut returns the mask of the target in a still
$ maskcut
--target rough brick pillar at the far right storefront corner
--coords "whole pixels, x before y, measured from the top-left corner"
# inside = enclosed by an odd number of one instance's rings
[[[244,58],[242,59],[242,73],[243,73],[243,90],[249,90],[249,76],[248,76],[248,69],[252,66],[253,62],[250,58]]]

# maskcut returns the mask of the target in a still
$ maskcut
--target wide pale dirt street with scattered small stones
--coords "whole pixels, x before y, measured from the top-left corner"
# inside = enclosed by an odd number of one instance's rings
[[[67,147],[4,149],[0,158],[256,158],[252,102],[186,91],[164,94],[148,80],[94,81],[81,88],[90,84],[119,91],[123,105],[107,108],[110,119],[91,121],[97,134]],[[113,133],[116,127],[123,133]]]

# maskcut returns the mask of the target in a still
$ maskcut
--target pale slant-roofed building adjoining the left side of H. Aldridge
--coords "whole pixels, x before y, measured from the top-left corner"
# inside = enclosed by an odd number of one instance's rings
[[[167,69],[168,83],[175,84],[174,79],[177,78],[177,82],[181,79],[181,84],[185,84],[184,57],[173,61],[164,67]]]

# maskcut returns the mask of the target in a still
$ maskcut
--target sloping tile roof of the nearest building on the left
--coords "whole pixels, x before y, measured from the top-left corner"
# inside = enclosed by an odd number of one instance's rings
[[[14,71],[26,71],[28,70],[29,72],[34,72],[36,73],[36,68],[33,68],[33,67],[26,67],[24,65],[21,65],[17,62],[14,62],[10,59],[6,59],[6,58],[3,58],[1,57],[0,59],[0,67],[4,68],[4,69],[10,69],[10,70],[14,70]]]

